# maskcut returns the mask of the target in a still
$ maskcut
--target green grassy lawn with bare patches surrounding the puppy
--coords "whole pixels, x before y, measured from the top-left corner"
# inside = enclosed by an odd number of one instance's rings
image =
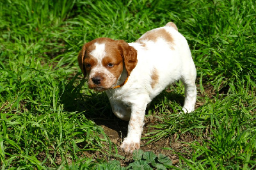
[[[147,111],[143,151],[125,155],[127,123],[88,89],[77,54],[170,21],[195,61],[196,110],[177,114],[173,84]],[[1,169],[255,169],[255,35],[253,0],[0,1]]]

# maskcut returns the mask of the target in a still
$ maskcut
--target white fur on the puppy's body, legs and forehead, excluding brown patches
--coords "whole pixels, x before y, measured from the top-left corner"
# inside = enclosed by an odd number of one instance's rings
[[[168,31],[173,38],[173,43],[170,45],[170,42],[166,42],[164,38],[159,38],[156,42],[144,40],[146,47],[138,42],[129,43],[137,50],[138,63],[124,86],[106,91],[115,115],[122,120],[130,120],[127,137],[121,145],[125,152],[131,153],[140,148],[147,104],[169,84],[180,79],[185,86],[183,111],[191,112],[195,109],[196,68],[188,43],[173,27],[164,26],[157,29]],[[97,55],[95,56],[102,56],[102,51],[104,52],[103,46],[96,47]],[[154,70],[157,70],[158,81],[152,88],[150,83]],[[124,82],[126,77],[127,72],[124,71],[120,76],[122,81],[118,83]]]

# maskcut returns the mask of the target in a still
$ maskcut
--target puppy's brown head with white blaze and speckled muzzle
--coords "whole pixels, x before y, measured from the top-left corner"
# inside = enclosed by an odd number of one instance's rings
[[[83,45],[77,59],[84,77],[88,75],[89,88],[104,91],[116,86],[124,68],[130,75],[137,51],[123,40],[97,38]]]

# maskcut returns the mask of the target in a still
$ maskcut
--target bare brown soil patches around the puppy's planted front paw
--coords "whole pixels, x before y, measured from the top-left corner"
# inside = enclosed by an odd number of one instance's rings
[[[119,147],[120,144],[122,143],[122,140],[127,135],[128,121],[122,121],[118,119],[114,119],[114,120],[98,119],[94,121],[97,125],[100,125],[101,127],[103,127],[104,132],[108,135],[111,142],[116,144],[116,146],[118,146],[118,154],[125,157],[125,158],[113,157],[112,159],[120,160],[121,166],[128,166],[128,164],[132,162],[132,154],[124,153],[124,151],[122,151]],[[150,125],[156,125],[156,123],[157,123],[157,118],[154,118],[153,116],[150,118],[145,118],[145,125],[143,128],[143,133],[141,137],[145,137],[145,134],[147,134],[147,132],[154,130],[154,128],[150,127]],[[177,164],[177,162],[179,162],[179,156],[175,155],[172,150],[164,150],[163,148],[172,148],[175,151],[182,151],[182,148],[186,147],[184,144],[180,143],[180,140],[177,142],[174,142],[175,136],[173,136],[172,139],[162,138],[159,141],[145,144],[148,141],[149,141],[148,139],[141,140],[141,148],[140,148],[141,150],[153,151],[156,155],[158,155],[159,153],[163,153],[164,155],[168,156],[172,160],[174,165]],[[188,140],[186,141],[188,142]],[[172,144],[170,145],[170,143]],[[97,155],[96,157],[99,158],[99,156],[100,155]]]

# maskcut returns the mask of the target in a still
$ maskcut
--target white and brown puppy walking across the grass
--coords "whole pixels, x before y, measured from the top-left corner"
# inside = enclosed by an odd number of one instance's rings
[[[121,148],[140,148],[145,110],[166,86],[181,80],[185,86],[184,112],[195,109],[196,68],[188,42],[173,22],[148,31],[136,42],[97,38],[84,44],[78,62],[88,86],[106,91],[114,114],[129,120]]]

